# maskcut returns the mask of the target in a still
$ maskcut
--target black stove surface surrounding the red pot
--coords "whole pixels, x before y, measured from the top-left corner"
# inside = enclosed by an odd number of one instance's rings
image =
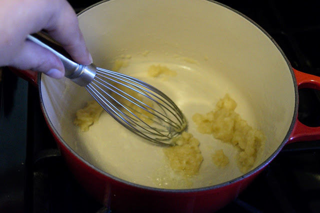
[[[264,28],[291,65],[320,76],[320,1],[218,0]],[[96,2],[69,0],[75,11]],[[320,126],[320,93],[299,90],[299,120]],[[320,141],[286,145],[227,212],[320,212]],[[45,124],[38,91],[5,68],[0,81],[0,212],[112,212],[73,179]]]

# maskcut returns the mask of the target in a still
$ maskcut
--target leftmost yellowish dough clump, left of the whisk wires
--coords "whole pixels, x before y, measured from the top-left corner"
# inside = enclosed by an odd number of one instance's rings
[[[75,113],[73,124],[79,126],[82,132],[89,130],[94,122],[98,121],[103,108],[96,101],[89,101],[83,109]]]

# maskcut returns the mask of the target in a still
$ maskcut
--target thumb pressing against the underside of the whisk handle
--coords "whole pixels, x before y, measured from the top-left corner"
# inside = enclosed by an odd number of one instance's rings
[[[24,41],[22,48],[9,65],[43,72],[56,79],[64,76],[64,67],[60,59],[54,53],[29,40]]]

